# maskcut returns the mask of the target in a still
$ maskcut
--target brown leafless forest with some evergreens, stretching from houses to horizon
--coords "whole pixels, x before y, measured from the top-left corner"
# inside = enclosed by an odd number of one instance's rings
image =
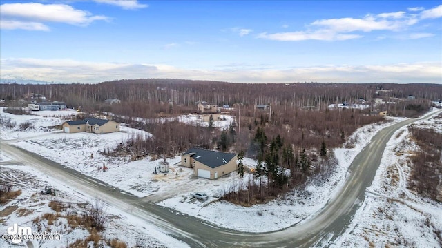
[[[77,118],[108,114],[115,121],[152,134],[134,135],[116,147],[104,149],[102,153],[108,156],[130,155],[133,160],[172,157],[191,147],[202,147],[256,159],[256,184],[244,187],[247,194],[244,190],[223,194],[229,200],[250,205],[276,197],[311,176],[332,171],[336,162],[328,149],[346,143],[358,127],[385,121],[378,112],[419,116],[430,109],[432,101],[442,99],[442,85],[247,84],[180,79],[1,85],[0,99],[12,107],[27,104],[19,100],[30,101],[36,95],[37,100],[46,96],[50,101],[64,101],[68,107],[81,109],[85,114]],[[108,104],[106,99],[119,99],[121,103]],[[202,101],[224,107],[222,111],[234,116],[235,121],[219,130],[211,124],[188,125],[171,118],[196,114],[196,104]],[[336,107],[361,101],[365,107]],[[258,105],[267,107],[258,109]],[[241,165],[238,172],[242,178]]]

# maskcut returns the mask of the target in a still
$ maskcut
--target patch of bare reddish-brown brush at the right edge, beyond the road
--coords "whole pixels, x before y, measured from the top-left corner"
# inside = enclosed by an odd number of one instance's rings
[[[442,201],[442,134],[419,127],[409,127],[408,130],[421,148],[412,156],[408,187],[418,194]]]

